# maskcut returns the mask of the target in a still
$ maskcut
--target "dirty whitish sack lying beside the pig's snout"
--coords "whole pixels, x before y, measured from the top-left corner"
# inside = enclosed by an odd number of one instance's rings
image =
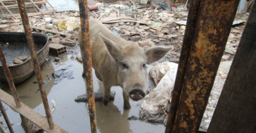
[[[160,80],[157,87],[143,99],[140,107],[140,119],[153,121],[160,117],[161,114],[166,114],[166,106],[171,99],[178,64],[172,62],[164,63],[170,65],[169,67],[166,66],[169,71],[164,70],[165,72],[161,72],[161,74],[166,74],[164,76],[161,75],[163,78]],[[161,64],[162,63],[158,64],[158,66],[161,66]],[[157,70],[156,68],[151,69]]]

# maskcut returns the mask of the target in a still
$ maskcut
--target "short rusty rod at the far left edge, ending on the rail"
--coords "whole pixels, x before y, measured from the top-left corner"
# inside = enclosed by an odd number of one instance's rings
[[[9,85],[9,88],[10,88],[10,90],[11,90],[11,92],[12,92],[12,96],[13,96],[13,98],[14,98],[16,107],[17,107],[17,108],[20,108],[20,107],[21,107],[20,99],[19,99],[17,90],[16,90],[16,88],[15,88],[15,85],[14,85],[14,82],[13,82],[13,79],[12,79],[11,72],[10,72],[10,70],[9,70],[9,68],[8,68],[8,65],[7,65],[7,62],[6,62],[6,58],[4,57],[3,49],[2,49],[1,44],[0,44],[0,61],[1,61],[1,63],[2,63],[3,71],[4,71],[4,74],[5,74],[5,76],[6,76],[6,79],[7,79],[8,85]]]

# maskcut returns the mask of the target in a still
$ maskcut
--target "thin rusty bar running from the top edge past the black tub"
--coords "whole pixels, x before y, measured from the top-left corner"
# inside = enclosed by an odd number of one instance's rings
[[[39,86],[39,90],[41,93],[41,97],[42,97],[42,101],[44,104],[44,110],[47,116],[47,120],[48,120],[48,124],[49,124],[49,128],[53,129],[54,128],[54,124],[52,121],[52,115],[50,113],[50,108],[49,108],[49,104],[48,104],[48,100],[47,100],[47,95],[45,92],[45,88],[44,88],[44,82],[43,82],[43,77],[41,74],[41,68],[39,65],[39,61],[38,61],[38,57],[35,51],[35,43],[32,37],[32,32],[30,29],[30,25],[29,25],[29,18],[28,15],[26,13],[26,7],[25,7],[25,2],[24,0],[17,0],[18,2],[18,7],[20,10],[20,16],[21,16],[21,20],[23,23],[23,28],[26,34],[26,40],[27,40],[27,44],[29,46],[29,52],[30,52],[30,56],[34,62],[34,70],[35,70],[35,74],[38,80],[38,86]]]

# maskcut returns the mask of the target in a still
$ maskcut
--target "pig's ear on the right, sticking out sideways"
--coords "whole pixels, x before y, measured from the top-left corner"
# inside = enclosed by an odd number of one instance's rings
[[[148,57],[147,64],[151,64],[163,58],[166,55],[166,53],[171,49],[172,47],[161,47],[161,46],[146,48],[145,54]]]

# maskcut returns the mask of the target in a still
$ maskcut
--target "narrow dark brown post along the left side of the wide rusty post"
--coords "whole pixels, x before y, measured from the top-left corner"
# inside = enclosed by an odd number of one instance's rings
[[[172,133],[201,0],[191,0],[165,133]]]

